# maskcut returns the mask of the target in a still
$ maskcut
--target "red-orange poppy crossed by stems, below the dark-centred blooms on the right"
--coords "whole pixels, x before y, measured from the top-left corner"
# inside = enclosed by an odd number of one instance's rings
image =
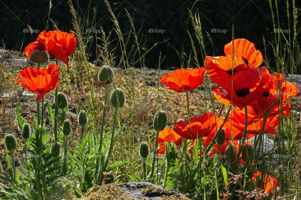
[[[261,131],[263,118],[258,118],[256,112],[252,109],[251,106],[247,106],[248,113],[248,126],[247,126],[247,139],[252,138],[255,135],[258,135]],[[225,129],[231,130],[226,131],[226,139],[230,140],[239,140],[244,136],[244,128],[245,128],[245,109],[240,110],[238,107],[235,107],[232,110],[232,113],[229,115],[230,120],[228,120],[224,124]],[[275,128],[279,125],[279,117],[271,116],[267,118],[264,133],[274,134],[277,132]]]

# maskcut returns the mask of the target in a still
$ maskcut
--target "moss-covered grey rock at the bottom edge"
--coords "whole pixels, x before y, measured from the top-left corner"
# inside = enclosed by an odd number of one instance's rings
[[[78,200],[190,200],[180,192],[149,182],[95,185]]]

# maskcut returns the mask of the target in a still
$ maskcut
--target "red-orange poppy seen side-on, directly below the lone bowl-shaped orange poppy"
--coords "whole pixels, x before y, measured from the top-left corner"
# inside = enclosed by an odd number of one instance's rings
[[[213,113],[204,113],[202,117],[190,118],[190,126],[188,121],[176,122],[173,130],[183,138],[194,140],[209,136],[222,124],[223,120],[218,116]]]

